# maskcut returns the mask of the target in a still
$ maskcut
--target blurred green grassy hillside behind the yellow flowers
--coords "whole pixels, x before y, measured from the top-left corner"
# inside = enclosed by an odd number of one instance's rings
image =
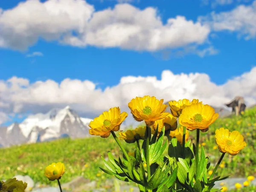
[[[209,154],[209,162],[212,165],[221,155],[216,149],[214,135],[215,129],[221,127],[229,128],[230,131],[240,131],[244,135],[247,146],[236,156],[226,154],[222,168],[218,172],[222,176],[231,175],[231,177],[256,176],[256,108],[245,111],[239,117],[218,119],[207,133],[201,133],[201,145],[204,145],[206,153]],[[195,131],[190,132],[190,138],[194,140]],[[122,143],[128,151],[132,151],[133,144]],[[49,182],[44,177],[44,168],[52,162],[61,161],[66,166],[66,172],[61,178],[62,183],[80,175],[102,183],[106,178],[111,178],[99,169],[99,166],[103,167],[100,157],[107,157],[107,151],[120,154],[118,145],[112,137],[61,139],[3,148],[0,149],[0,180],[19,174],[29,175],[35,183],[56,185],[57,182]]]

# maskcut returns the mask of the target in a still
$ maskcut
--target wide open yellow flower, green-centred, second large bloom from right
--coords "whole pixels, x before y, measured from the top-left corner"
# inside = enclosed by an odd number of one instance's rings
[[[215,113],[211,106],[196,103],[182,110],[179,123],[191,131],[197,128],[201,131],[207,131],[209,125],[215,122],[217,118],[218,113]]]

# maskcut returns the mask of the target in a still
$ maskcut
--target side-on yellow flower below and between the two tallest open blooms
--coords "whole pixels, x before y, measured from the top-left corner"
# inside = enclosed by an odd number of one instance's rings
[[[171,113],[168,113],[168,115],[160,120],[157,120],[154,122],[154,124],[152,125],[152,128],[154,129],[154,131],[157,129],[157,125],[158,125],[158,132],[160,133],[163,126],[165,127],[165,130],[171,130],[174,131],[175,129],[177,129],[177,118],[174,117]]]

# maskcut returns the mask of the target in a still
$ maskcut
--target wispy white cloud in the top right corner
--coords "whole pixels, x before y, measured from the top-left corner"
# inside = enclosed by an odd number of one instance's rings
[[[208,17],[200,17],[214,31],[237,32],[245,39],[256,37],[256,1],[249,6],[240,5],[230,12],[212,12]]]

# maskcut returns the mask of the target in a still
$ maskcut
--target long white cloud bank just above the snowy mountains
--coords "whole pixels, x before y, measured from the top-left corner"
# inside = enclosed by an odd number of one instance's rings
[[[205,73],[173,74],[164,70],[161,79],[155,76],[125,76],[119,84],[105,90],[92,81],[64,79],[29,82],[12,77],[0,81],[1,122],[13,113],[47,112],[70,105],[81,116],[93,118],[105,110],[119,106],[129,112],[128,102],[136,96],[151,95],[169,100],[198,98],[204,103],[221,107],[235,96],[244,96],[247,105],[256,103],[256,67],[250,72],[216,85]]]

